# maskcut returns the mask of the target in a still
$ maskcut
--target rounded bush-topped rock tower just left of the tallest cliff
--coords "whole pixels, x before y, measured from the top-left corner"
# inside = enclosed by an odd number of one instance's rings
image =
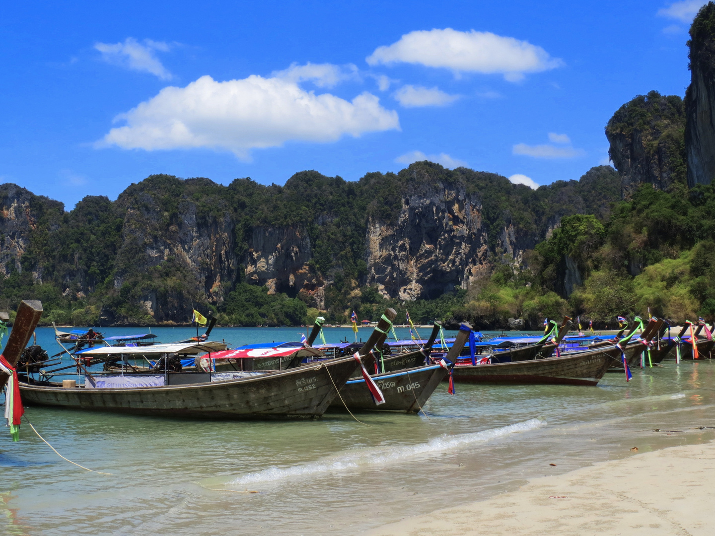
[[[621,174],[621,195],[643,183],[667,189],[685,180],[685,111],[677,95],[657,91],[623,104],[606,125],[608,156]]]

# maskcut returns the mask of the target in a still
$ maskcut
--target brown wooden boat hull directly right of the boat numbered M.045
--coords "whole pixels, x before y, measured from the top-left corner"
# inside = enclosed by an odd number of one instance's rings
[[[596,385],[620,354],[613,347],[532,361],[458,365],[452,375],[455,382]]]

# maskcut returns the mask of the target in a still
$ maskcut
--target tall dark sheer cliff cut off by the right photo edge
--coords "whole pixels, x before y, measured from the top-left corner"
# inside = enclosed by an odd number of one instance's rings
[[[685,94],[688,185],[715,177],[715,4],[703,6],[690,29],[691,83]]]

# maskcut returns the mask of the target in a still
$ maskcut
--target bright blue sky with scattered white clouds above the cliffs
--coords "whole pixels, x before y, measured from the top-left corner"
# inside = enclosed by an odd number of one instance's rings
[[[618,106],[684,95],[701,4],[16,2],[0,179],[67,209],[153,173],[357,180],[425,157],[578,179],[607,161]]]

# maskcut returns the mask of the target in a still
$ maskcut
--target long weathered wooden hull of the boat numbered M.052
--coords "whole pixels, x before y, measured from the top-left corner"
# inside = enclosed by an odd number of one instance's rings
[[[134,415],[255,419],[320,417],[355,372],[352,357],[225,382],[86,389],[20,383],[26,405]]]

